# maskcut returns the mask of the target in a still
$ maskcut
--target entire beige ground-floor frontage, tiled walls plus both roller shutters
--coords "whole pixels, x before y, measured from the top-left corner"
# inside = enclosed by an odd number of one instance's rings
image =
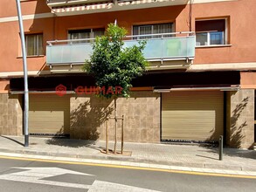
[[[160,93],[152,91],[133,92],[128,99],[118,98],[117,114],[124,115],[124,140],[160,142],[162,132],[162,139],[167,140],[218,141],[220,134],[226,134],[230,147],[253,147],[254,90],[226,92],[225,107],[223,94],[221,91],[162,93],[162,106]],[[0,93],[0,134],[23,134],[22,98],[23,95]],[[73,139],[105,140],[107,117],[114,116],[114,99],[92,95],[30,94],[30,104],[30,133],[63,133]],[[108,127],[109,139],[114,141],[114,120],[108,121]],[[121,121],[118,121],[118,140],[121,140]]]

